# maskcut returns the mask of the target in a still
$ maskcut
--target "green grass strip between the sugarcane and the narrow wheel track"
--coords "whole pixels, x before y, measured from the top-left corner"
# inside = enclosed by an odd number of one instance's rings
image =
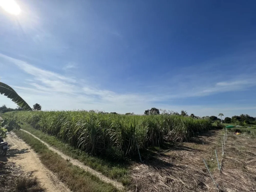
[[[68,155],[74,159],[78,159],[80,162],[91,167],[92,169],[101,172],[103,175],[112,179],[116,179],[124,185],[130,183],[129,169],[127,165],[109,162],[106,159],[89,155],[88,153],[81,151],[71,146],[70,144],[63,143],[55,136],[51,136],[40,130],[34,129],[27,123],[24,123],[21,128],[32,133],[50,146],[55,147],[65,155]]]

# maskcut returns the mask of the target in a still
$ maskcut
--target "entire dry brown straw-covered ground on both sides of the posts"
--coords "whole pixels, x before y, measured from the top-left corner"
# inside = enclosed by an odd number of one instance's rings
[[[218,183],[219,191],[256,191],[255,139],[247,134],[228,134],[222,157],[222,130],[211,130],[191,142],[163,151],[154,159],[134,165],[134,191],[217,191],[202,158]],[[204,144],[203,144],[204,143]],[[218,170],[217,150],[221,172]]]

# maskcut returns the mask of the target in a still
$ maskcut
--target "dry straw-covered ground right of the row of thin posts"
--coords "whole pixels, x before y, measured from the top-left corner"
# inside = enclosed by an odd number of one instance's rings
[[[228,134],[221,173],[216,173],[220,191],[256,191],[256,139],[248,134]]]

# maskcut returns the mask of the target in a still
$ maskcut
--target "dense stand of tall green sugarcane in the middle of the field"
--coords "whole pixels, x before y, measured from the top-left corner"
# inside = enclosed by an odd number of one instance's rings
[[[90,154],[113,158],[138,154],[139,149],[158,146],[158,141],[189,140],[193,132],[211,128],[208,119],[178,115],[119,115],[87,111],[15,112],[19,120],[55,135],[63,142]],[[121,157],[120,157],[121,156]]]

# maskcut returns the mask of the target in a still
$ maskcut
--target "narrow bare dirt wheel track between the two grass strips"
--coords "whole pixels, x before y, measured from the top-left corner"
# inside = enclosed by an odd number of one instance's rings
[[[40,142],[42,142],[43,144],[45,144],[45,145],[49,148],[49,150],[56,152],[56,153],[57,153],[58,155],[60,155],[62,158],[64,158],[64,159],[69,159],[69,162],[72,163],[73,165],[76,165],[76,166],[80,167],[81,169],[90,172],[91,174],[93,174],[93,175],[99,177],[102,181],[104,181],[104,182],[106,182],[106,183],[111,183],[113,186],[115,186],[115,187],[118,188],[118,189],[121,189],[121,190],[124,189],[124,186],[123,186],[121,183],[119,183],[119,182],[117,182],[117,181],[115,181],[115,180],[112,180],[112,179],[110,179],[110,178],[104,176],[102,173],[97,172],[96,170],[92,169],[91,167],[84,165],[83,163],[81,163],[81,162],[78,161],[77,159],[73,159],[72,157],[63,154],[63,153],[60,152],[59,150],[56,150],[55,148],[51,147],[50,145],[48,145],[48,144],[45,143],[44,141],[40,140],[38,137],[36,137],[36,136],[33,135],[32,133],[30,133],[30,132],[28,132],[28,131],[25,131],[25,130],[23,130],[23,129],[20,129],[20,130],[21,130],[21,131],[24,131],[25,133],[27,133],[27,134],[29,134],[29,135],[31,135],[31,136],[33,136],[34,138],[36,138],[37,140],[39,140]]]

